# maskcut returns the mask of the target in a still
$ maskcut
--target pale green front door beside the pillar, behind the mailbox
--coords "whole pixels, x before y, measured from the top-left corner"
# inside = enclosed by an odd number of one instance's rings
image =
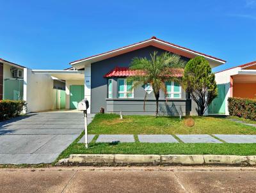
[[[84,98],[83,85],[70,85],[70,109],[77,109],[78,103]]]

